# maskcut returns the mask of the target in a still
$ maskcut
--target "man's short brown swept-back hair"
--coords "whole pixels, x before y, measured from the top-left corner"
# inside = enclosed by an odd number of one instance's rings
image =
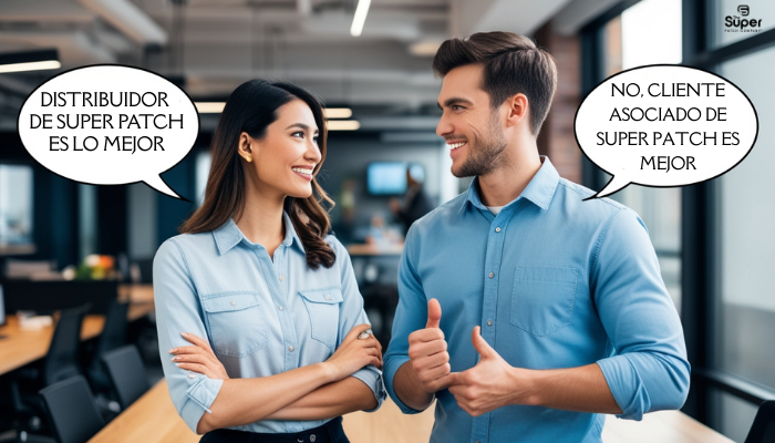
[[[530,133],[538,135],[557,89],[555,59],[527,37],[513,32],[478,32],[466,39],[445,41],[433,58],[433,72],[446,75],[455,68],[479,63],[482,89],[493,110],[506,99],[523,93],[530,109]]]

